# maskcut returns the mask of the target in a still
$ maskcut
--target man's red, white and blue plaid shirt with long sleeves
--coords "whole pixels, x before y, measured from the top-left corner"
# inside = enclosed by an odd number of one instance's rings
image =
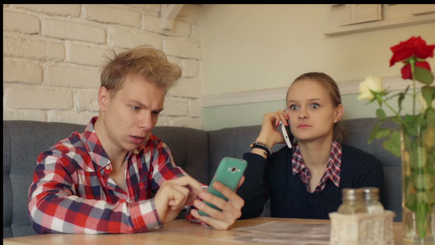
[[[125,158],[123,191],[109,177],[112,164],[94,131],[97,118],[85,132],[71,133],[38,156],[28,198],[35,232],[135,233],[163,227],[154,194],[166,180],[187,174],[166,144],[150,134]]]

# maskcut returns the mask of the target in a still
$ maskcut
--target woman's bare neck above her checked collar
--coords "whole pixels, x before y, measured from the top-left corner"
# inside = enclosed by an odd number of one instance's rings
[[[324,169],[331,155],[332,135],[308,142],[298,142],[298,146],[308,169]]]

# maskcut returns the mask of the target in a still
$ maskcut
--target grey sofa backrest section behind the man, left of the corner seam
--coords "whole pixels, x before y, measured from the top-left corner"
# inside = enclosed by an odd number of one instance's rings
[[[3,238],[35,235],[27,198],[37,156],[84,125],[25,120],[3,121]],[[209,183],[207,132],[181,127],[156,127],[178,166],[200,182]]]

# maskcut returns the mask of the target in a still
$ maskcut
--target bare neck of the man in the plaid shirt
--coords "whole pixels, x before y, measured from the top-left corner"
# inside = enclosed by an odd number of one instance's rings
[[[103,117],[101,115],[96,119],[94,124],[95,134],[100,140],[107,157],[112,163],[112,167],[117,169],[124,163],[126,154],[128,151],[119,148],[115,143],[113,143],[107,134],[106,127],[104,127]]]

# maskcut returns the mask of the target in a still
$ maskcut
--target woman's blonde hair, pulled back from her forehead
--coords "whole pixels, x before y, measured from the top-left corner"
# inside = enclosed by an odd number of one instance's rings
[[[329,94],[331,95],[332,103],[335,107],[342,104],[342,96],[340,95],[339,86],[337,86],[337,83],[335,83],[335,81],[331,77],[324,74],[323,72],[307,72],[297,77],[295,81],[293,81],[292,85],[298,81],[306,80],[306,79],[317,81],[322,86],[324,86],[328,90]],[[288,87],[288,90],[292,87],[292,85]],[[287,94],[288,94],[288,90],[287,90]],[[287,102],[287,95],[285,97],[285,101]],[[334,124],[333,138],[335,140],[341,142],[346,133],[347,130],[341,121],[338,121]]]

